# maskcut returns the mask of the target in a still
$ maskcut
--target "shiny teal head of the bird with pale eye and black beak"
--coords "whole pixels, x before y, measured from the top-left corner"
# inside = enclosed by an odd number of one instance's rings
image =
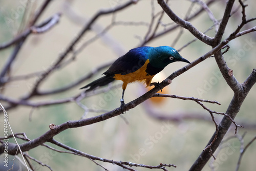
[[[179,52],[172,47],[160,46],[153,48],[148,55],[148,59],[153,67],[164,68],[169,63],[182,61],[190,63],[187,59],[181,57]]]

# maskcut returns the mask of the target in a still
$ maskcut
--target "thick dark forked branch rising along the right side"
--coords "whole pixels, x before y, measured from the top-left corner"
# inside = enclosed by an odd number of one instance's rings
[[[241,1],[240,1],[240,3],[241,3]],[[215,37],[216,45],[218,44],[218,42],[220,42],[221,37],[224,33],[232,5],[233,5],[233,1],[229,1],[227,8],[225,10],[225,14],[224,14],[222,23],[220,25],[219,31],[217,32],[216,37]],[[244,10],[244,8],[245,7],[243,6],[243,10]],[[246,23],[246,21],[245,21],[245,14],[244,14],[241,25],[237,28],[236,31],[234,31],[232,34],[230,34],[229,37],[226,38],[225,41],[228,42],[228,41],[238,37],[236,35],[238,34],[239,30],[245,25],[245,23]],[[254,29],[251,29],[251,31],[254,31]],[[249,32],[251,32],[251,31],[249,31]],[[251,87],[253,86],[253,84],[256,82],[255,69],[253,69],[251,75],[246,79],[246,81],[243,84],[240,84],[237,81],[237,79],[233,76],[232,70],[229,69],[228,66],[226,65],[226,62],[222,56],[221,51],[215,53],[215,59],[216,59],[216,62],[218,64],[218,67],[220,68],[220,71],[221,71],[224,79],[228,83],[229,87],[234,91],[234,96],[233,96],[232,101],[230,102],[228,109],[226,111],[226,114],[228,116],[223,117],[221,123],[218,126],[218,131],[216,130],[216,132],[214,133],[214,135],[212,135],[210,141],[206,145],[206,147],[208,147],[210,145],[211,153],[203,151],[200,154],[200,156],[198,157],[198,159],[194,162],[194,164],[190,167],[190,170],[201,170],[204,167],[206,162],[211,157],[212,153],[214,153],[216,151],[217,147],[221,143],[221,140],[225,136],[228,128],[230,127],[230,124],[232,123],[231,119],[236,117],[236,115],[240,111],[240,106],[242,105],[245,97],[247,96],[247,94],[248,94],[249,90],[251,89]],[[231,119],[227,119],[227,117],[231,118]],[[237,131],[237,126],[236,126],[236,131]],[[218,133],[218,136],[216,136],[217,133]],[[214,141],[214,144],[212,144],[212,141]]]

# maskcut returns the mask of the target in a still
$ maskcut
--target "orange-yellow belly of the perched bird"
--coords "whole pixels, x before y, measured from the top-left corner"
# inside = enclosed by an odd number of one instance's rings
[[[123,86],[122,86],[123,90],[126,89],[126,86],[128,83],[135,82],[135,81],[146,83],[146,87],[148,87],[150,86],[152,78],[155,76],[155,75],[147,75],[146,73],[146,66],[147,66],[147,63],[149,62],[150,61],[147,59],[144,65],[137,71],[129,74],[125,74],[125,75],[115,74],[114,78],[117,80],[123,81]]]

